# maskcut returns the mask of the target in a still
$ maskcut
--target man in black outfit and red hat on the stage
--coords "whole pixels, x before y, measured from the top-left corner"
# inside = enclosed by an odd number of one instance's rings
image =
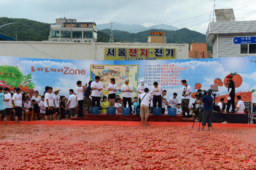
[[[228,97],[231,99],[227,101],[227,113],[235,113],[235,82],[232,80],[231,74],[226,76],[228,83]],[[232,111],[229,112],[230,104],[232,105]]]

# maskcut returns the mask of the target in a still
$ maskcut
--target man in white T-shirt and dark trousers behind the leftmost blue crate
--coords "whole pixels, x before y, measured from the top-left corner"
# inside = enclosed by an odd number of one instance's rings
[[[100,108],[100,91],[102,90],[100,76],[95,76],[95,81],[91,82],[91,90],[91,106],[95,107],[95,103],[97,103],[96,107]]]

